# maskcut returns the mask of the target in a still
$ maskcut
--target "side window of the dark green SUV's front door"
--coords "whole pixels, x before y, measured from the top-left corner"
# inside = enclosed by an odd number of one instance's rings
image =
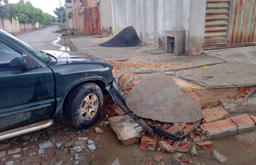
[[[0,70],[21,68],[22,55],[0,41]]]

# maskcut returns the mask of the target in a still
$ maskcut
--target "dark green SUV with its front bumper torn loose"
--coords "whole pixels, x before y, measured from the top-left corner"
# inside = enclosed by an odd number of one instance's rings
[[[92,126],[103,94],[125,97],[117,85],[113,67],[103,59],[37,51],[0,30],[0,140],[48,127],[61,114],[75,128]]]

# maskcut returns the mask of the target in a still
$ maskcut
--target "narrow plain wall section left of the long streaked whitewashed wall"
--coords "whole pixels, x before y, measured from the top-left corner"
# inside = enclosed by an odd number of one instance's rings
[[[111,34],[110,28],[112,28],[112,11],[111,11],[111,0],[102,0],[98,3],[100,22],[101,22],[101,33]]]

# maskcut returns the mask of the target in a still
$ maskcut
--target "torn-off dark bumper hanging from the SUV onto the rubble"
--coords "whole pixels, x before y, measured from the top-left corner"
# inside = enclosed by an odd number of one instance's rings
[[[181,131],[171,132],[161,127],[161,125],[152,126],[147,124],[140,116],[136,115],[133,111],[131,111],[125,104],[126,95],[121,92],[119,89],[119,81],[115,78],[112,84],[108,85],[105,88],[109,95],[111,96],[113,102],[121,108],[127,115],[129,115],[132,119],[134,119],[143,129],[145,129],[151,136],[154,136],[156,133],[160,133],[170,139],[175,141],[182,141],[186,137],[183,135]]]

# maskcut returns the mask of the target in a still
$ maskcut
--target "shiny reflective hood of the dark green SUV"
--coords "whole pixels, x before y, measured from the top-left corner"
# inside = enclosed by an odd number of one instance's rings
[[[57,63],[60,62],[81,62],[81,63],[88,63],[88,62],[93,62],[93,63],[107,63],[105,60],[91,56],[85,53],[80,53],[80,52],[74,52],[74,51],[66,51],[65,50],[42,50],[41,52],[45,52],[47,54],[50,54],[54,56],[57,59]]]

